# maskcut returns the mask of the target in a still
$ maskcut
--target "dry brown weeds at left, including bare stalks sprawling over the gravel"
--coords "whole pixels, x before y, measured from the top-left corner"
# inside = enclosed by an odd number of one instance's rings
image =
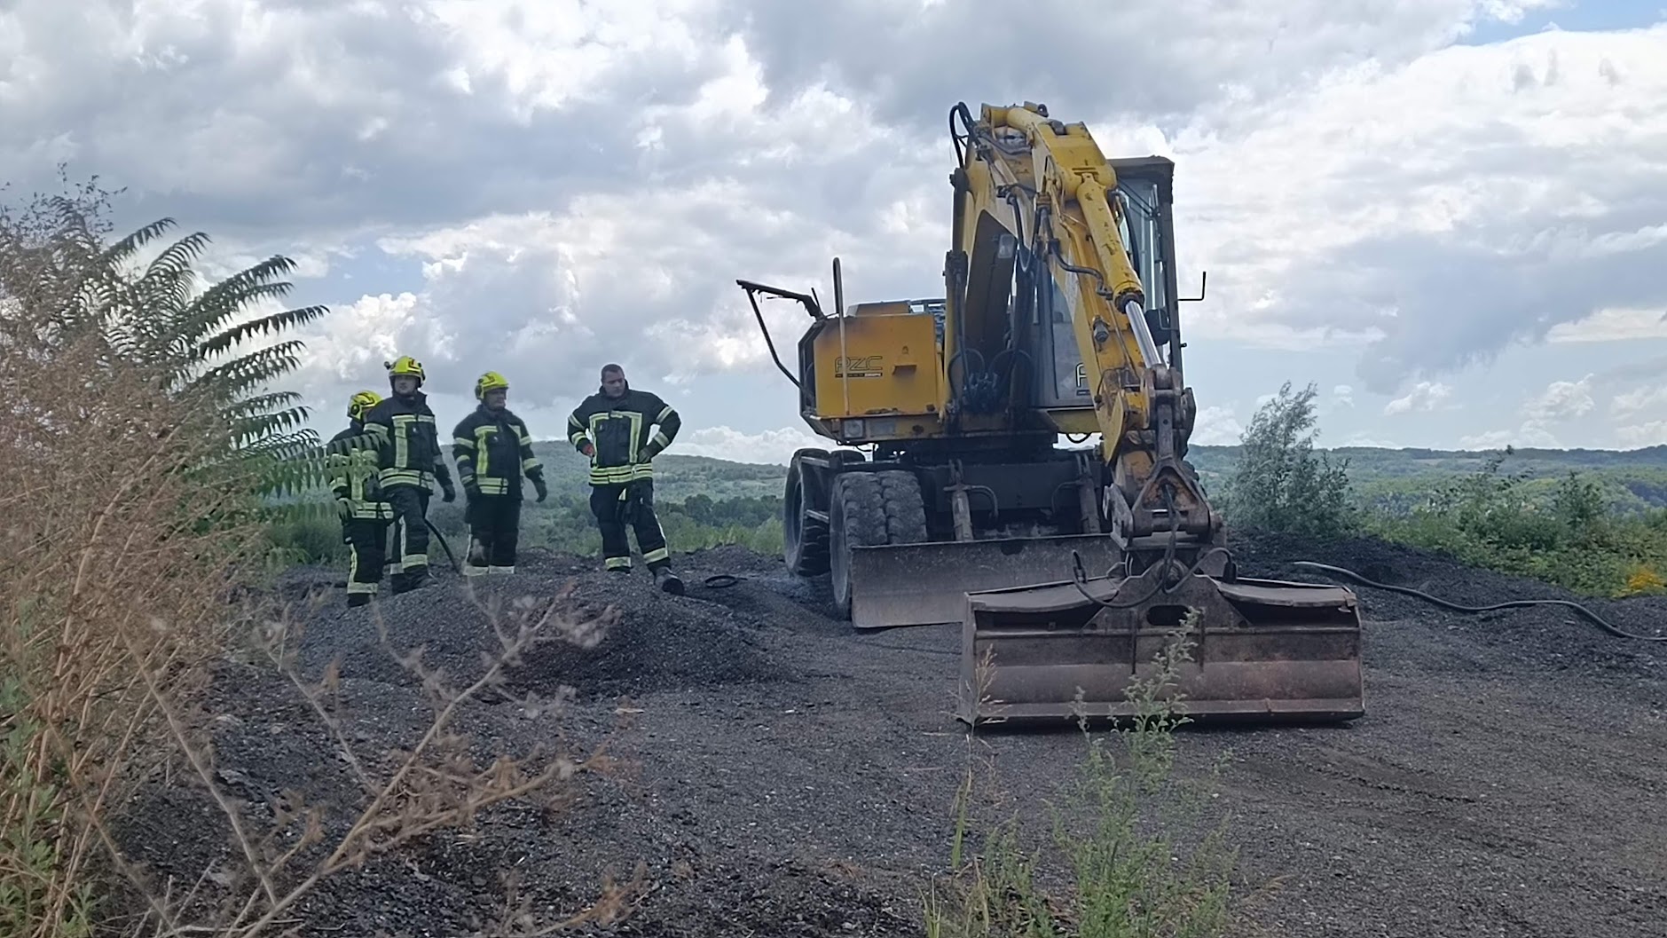
[[[0,933],[67,938],[123,918],[133,935],[305,933],[293,916],[332,873],[605,765],[600,753],[478,765],[453,718],[530,645],[593,641],[613,613],[572,615],[567,593],[507,616],[492,608],[502,653],[485,673],[452,690],[410,661],[435,705],[430,726],[405,751],[357,751],[337,718],[337,671],[305,680],[293,628],[242,590],[270,541],[260,463],[227,458],[225,400],[182,388],[177,360],[102,328],[105,310],[142,318],[147,302],[108,263],[95,222],[105,197],[0,210]],[[248,638],[320,718],[360,803],[290,791],[262,818],[220,783],[205,691]],[[173,878],[157,886],[115,831],[143,790],[188,781],[230,828],[238,863],[190,871],[182,895]],[[635,886],[610,885],[592,915],[617,916]]]

